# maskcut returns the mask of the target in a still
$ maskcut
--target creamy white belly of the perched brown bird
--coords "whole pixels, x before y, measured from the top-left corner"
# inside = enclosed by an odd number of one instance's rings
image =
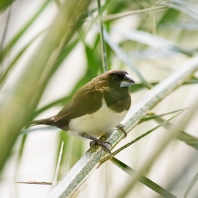
[[[72,119],[69,123],[68,134],[78,136],[84,132],[93,137],[99,137],[113,130],[123,120],[126,113],[127,111],[116,113],[108,108],[103,100],[102,107],[98,111]]]

